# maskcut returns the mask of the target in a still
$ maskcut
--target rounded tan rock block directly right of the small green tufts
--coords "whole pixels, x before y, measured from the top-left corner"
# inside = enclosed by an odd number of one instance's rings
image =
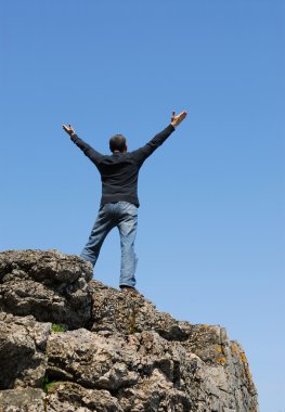
[[[85,329],[53,335],[48,344],[48,375],[112,391],[133,385],[139,375],[126,364],[131,362],[126,345],[118,335],[106,337]]]

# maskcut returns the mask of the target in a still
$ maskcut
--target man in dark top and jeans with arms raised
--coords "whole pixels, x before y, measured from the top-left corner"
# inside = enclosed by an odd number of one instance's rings
[[[102,198],[96,221],[80,255],[93,263],[100,254],[107,233],[116,226],[120,234],[121,267],[119,286],[122,291],[137,292],[134,272],[138,258],[134,254],[134,240],[138,224],[138,176],[144,160],[174,131],[186,117],[186,112],[176,116],[172,112],[170,125],[156,134],[147,144],[128,152],[122,134],[109,140],[112,155],[103,155],[83,142],[75,133],[72,125],[63,125],[72,141],[96,166],[101,173]]]

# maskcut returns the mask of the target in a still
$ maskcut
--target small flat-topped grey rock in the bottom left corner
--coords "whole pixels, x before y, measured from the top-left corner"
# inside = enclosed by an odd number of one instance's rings
[[[46,394],[41,389],[26,388],[0,391],[0,412],[47,412]]]

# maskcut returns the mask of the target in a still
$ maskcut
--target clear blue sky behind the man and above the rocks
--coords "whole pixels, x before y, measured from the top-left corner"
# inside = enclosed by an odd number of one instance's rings
[[[189,117],[140,173],[138,288],[244,347],[261,412],[285,411],[282,0],[0,0],[0,248],[79,254],[98,151]],[[95,278],[118,286],[119,236]]]

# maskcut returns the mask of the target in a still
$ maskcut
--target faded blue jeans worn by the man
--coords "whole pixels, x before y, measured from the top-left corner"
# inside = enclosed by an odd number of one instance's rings
[[[95,265],[101,246],[108,232],[115,226],[119,230],[121,248],[119,284],[120,286],[127,285],[133,287],[135,285],[134,272],[138,263],[134,253],[138,208],[131,203],[117,202],[101,206],[96,221],[80,257]]]

